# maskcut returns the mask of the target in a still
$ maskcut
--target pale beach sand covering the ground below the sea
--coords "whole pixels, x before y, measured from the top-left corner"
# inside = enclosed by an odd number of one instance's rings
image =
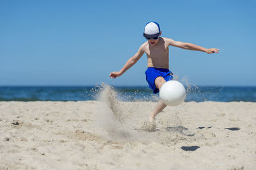
[[[0,102],[0,169],[256,169],[256,103]]]

